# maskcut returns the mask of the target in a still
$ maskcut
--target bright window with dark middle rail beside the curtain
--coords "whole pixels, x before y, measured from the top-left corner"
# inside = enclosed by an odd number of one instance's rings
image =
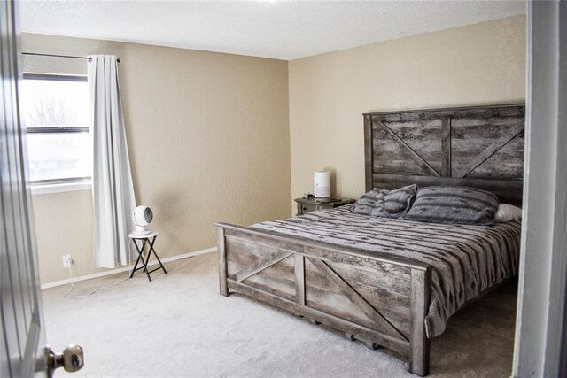
[[[85,76],[24,74],[20,113],[33,184],[90,180],[92,120]]]

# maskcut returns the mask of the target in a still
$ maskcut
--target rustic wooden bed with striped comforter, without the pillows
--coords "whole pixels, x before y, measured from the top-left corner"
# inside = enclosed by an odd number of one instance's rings
[[[521,204],[524,105],[364,114],[366,189],[467,186]],[[350,206],[252,227],[218,223],[221,295],[239,292],[408,356],[517,274],[519,222],[388,220]]]

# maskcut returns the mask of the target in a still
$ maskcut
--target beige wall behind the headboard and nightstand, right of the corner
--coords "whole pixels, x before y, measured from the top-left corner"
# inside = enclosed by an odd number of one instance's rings
[[[292,197],[322,168],[361,196],[364,112],[523,102],[525,43],[517,16],[291,61]]]

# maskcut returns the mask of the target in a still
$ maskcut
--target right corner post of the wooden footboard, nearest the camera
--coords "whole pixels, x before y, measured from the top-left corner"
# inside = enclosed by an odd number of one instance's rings
[[[425,315],[430,299],[430,269],[411,271],[411,330],[409,339],[409,373],[429,374],[430,341],[425,334]]]

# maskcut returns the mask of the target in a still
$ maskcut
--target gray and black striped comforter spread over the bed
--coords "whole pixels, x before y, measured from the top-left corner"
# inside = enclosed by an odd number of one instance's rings
[[[352,205],[253,225],[278,234],[355,247],[433,266],[428,337],[439,336],[454,312],[481,291],[518,272],[521,224],[443,225],[361,215]]]

